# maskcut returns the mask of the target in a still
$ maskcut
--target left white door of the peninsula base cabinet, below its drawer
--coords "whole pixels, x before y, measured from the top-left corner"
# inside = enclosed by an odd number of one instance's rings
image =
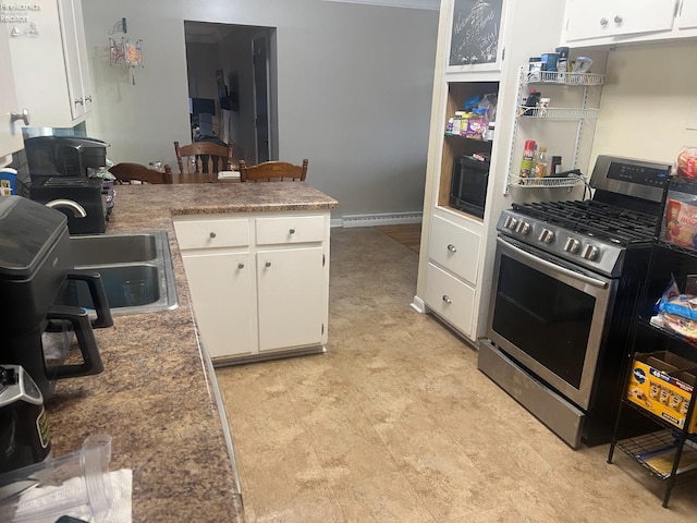
[[[248,252],[183,253],[196,321],[211,358],[256,350],[254,265]]]

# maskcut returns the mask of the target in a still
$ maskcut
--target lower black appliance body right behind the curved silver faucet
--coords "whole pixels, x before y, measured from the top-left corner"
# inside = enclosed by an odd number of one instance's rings
[[[56,207],[68,217],[71,234],[100,233],[107,230],[110,208],[107,192],[100,178],[52,177],[32,183],[29,197],[40,204],[57,199],[70,199],[80,204],[86,216],[81,216],[69,206]]]

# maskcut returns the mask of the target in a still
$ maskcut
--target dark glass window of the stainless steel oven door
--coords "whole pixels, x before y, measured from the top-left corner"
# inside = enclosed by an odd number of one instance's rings
[[[493,330],[576,389],[594,307],[594,296],[501,256]]]

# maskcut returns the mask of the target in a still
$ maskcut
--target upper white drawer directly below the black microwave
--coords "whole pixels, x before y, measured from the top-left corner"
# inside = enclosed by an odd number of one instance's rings
[[[433,217],[429,258],[473,285],[477,284],[480,243],[478,233],[439,216]]]

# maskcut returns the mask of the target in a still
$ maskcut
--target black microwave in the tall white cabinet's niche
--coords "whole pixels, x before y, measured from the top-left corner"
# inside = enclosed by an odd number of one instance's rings
[[[453,178],[450,183],[450,206],[484,218],[488,184],[488,161],[481,161],[472,156],[455,157]]]

